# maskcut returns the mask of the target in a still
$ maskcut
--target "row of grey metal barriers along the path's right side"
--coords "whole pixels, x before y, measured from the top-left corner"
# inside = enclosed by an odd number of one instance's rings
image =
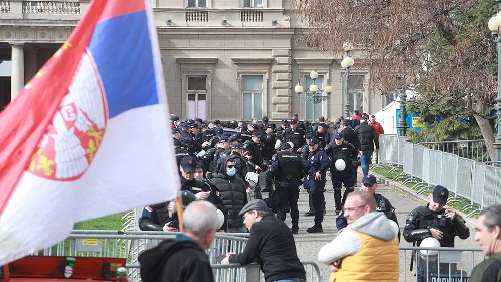
[[[468,217],[477,215],[483,207],[501,202],[500,167],[430,149],[428,144],[413,144],[396,135],[381,135],[380,141],[380,163],[402,165],[402,173],[393,180],[414,183],[412,188],[417,189],[418,194],[443,185],[451,192],[448,203],[461,203],[461,210]],[[392,150],[397,153],[391,153]]]

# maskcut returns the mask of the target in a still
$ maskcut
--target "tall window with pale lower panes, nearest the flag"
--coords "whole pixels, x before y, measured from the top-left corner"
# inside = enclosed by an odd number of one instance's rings
[[[207,96],[207,77],[205,76],[187,76],[186,77],[186,95],[188,96],[187,117],[194,119],[196,117],[202,120],[206,119],[206,96]]]

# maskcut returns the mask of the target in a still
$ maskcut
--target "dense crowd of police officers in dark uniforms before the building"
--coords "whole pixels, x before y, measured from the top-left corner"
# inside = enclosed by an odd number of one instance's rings
[[[354,191],[359,158],[367,148],[379,149],[375,128],[382,127],[379,123],[369,125],[369,119],[366,114],[355,113],[351,119],[336,118],[332,124],[323,117],[310,124],[295,114],[276,126],[266,116],[250,124],[217,119],[205,123],[199,118],[183,122],[171,116],[181,190],[190,192],[183,192],[183,199],[213,202],[225,215],[222,230],[246,232],[238,212],[250,195],[263,199],[262,193],[267,192],[265,202],[283,221],[290,213],[292,233],[297,234],[297,202],[303,185],[310,202],[305,216],[314,216],[314,225],[307,232],[323,232],[327,176],[335,191],[336,214],[340,214],[343,198]],[[258,175],[264,181],[258,181]],[[147,206],[140,228],[176,230],[171,223],[176,220],[174,207],[174,203]]]

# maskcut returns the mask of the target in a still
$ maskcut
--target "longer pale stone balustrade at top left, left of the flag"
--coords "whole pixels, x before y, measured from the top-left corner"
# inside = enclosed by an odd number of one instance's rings
[[[80,3],[74,1],[23,1],[26,14],[80,14]]]

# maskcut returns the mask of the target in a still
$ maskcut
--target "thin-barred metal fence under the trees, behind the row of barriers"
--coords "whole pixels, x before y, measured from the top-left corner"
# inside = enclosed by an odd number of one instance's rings
[[[419,145],[424,145],[428,149],[436,149],[439,151],[452,153],[459,157],[472,159],[477,162],[490,161],[489,154],[485,141],[480,140],[455,140],[455,141],[437,141],[437,142],[420,142]]]

